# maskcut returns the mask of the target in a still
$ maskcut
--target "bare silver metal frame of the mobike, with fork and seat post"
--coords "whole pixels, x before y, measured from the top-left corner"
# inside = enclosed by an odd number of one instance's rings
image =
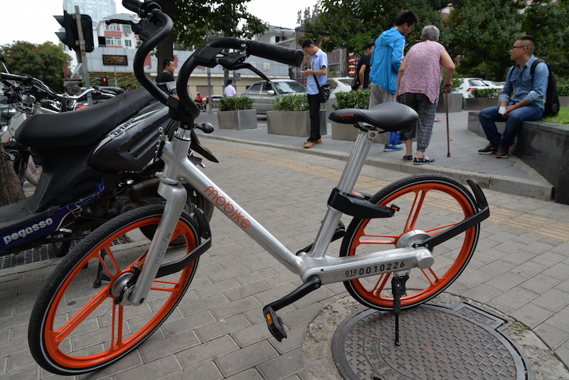
[[[188,181],[196,191],[201,192],[219,211],[285,265],[288,270],[297,273],[303,282],[317,275],[322,284],[336,283],[390,273],[394,270],[398,272],[410,268],[425,269],[434,263],[430,250],[422,247],[395,248],[357,257],[336,258],[326,255],[326,250],[332,241],[342,214],[331,206],[328,206],[317,238],[309,252],[294,255],[188,160],[190,134],[190,130],[179,129],[174,134],[173,141],[165,142],[161,153],[161,159],[165,165],[164,171],[160,174],[161,183],[158,192],[166,199],[166,208],[152,239],[147,260],[142,266],[137,284],[132,289],[131,295],[123,298],[122,305],[141,305],[148,295],[186,199],[186,191],[179,184],[181,178]],[[339,191],[351,193],[377,134],[376,130],[359,132],[339,181],[337,187]]]

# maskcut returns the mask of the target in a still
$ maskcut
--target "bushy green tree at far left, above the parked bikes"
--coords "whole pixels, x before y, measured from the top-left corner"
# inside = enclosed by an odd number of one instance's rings
[[[63,65],[69,65],[71,57],[60,46],[52,42],[16,41],[12,45],[1,46],[1,50],[11,73],[32,75],[53,90],[63,91]]]

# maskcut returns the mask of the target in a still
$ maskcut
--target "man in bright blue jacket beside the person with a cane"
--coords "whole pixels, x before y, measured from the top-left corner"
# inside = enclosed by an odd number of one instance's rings
[[[395,102],[397,92],[397,75],[403,61],[403,49],[407,46],[405,36],[409,34],[413,26],[419,23],[419,18],[413,11],[401,12],[395,26],[381,33],[376,40],[371,55],[370,85],[370,109],[385,102]],[[389,143],[389,132],[385,136],[383,152],[393,152],[403,149],[398,145]]]

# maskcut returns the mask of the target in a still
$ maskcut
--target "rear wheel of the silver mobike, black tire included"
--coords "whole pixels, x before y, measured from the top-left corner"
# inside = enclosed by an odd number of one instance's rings
[[[472,194],[448,176],[421,174],[385,187],[370,201],[400,207],[393,218],[354,218],[342,241],[340,256],[361,255],[393,249],[410,231],[430,236],[472,216],[477,211]],[[407,292],[401,308],[414,307],[447,289],[469,263],[476,248],[480,225],[436,246],[431,268],[410,270]],[[358,302],[377,310],[393,310],[392,273],[345,281],[344,285]]]

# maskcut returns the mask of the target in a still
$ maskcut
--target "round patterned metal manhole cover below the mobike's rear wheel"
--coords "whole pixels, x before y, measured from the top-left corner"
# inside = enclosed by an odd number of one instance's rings
[[[332,355],[345,379],[533,379],[523,352],[502,333],[506,321],[467,302],[404,310],[399,347],[394,325],[392,314],[371,309],[342,322]]]

